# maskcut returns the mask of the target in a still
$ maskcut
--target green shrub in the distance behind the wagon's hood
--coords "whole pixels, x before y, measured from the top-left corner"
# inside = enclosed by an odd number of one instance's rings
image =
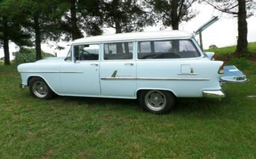
[[[54,57],[50,53],[44,53],[42,51],[42,58]],[[17,64],[35,62],[35,49],[34,48],[21,48],[18,52],[15,53],[15,62]]]

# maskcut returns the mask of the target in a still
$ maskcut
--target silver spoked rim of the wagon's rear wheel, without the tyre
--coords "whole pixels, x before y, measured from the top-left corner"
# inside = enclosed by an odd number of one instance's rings
[[[149,91],[145,95],[145,104],[153,111],[160,111],[166,106],[166,97],[161,91]]]

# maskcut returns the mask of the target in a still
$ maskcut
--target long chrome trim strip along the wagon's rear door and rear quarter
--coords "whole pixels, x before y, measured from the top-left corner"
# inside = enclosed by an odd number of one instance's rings
[[[102,80],[161,80],[161,81],[208,81],[209,78],[151,78],[151,77],[103,77]]]

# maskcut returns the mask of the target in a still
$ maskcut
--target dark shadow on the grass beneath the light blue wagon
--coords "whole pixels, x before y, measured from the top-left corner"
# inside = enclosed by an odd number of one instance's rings
[[[129,111],[137,109],[138,112],[143,112],[140,109],[138,100],[127,100],[127,99],[116,99],[116,98],[102,98],[102,97],[68,97],[68,96],[57,96],[56,100],[64,100],[64,102],[75,102],[75,104],[88,105],[89,107],[104,107],[110,106],[118,108],[121,111]],[[217,113],[221,107],[221,104],[225,103],[226,100],[212,100],[206,98],[176,98],[176,104],[174,109],[170,113],[174,114],[190,114],[190,113],[201,113],[203,116],[207,114]],[[216,114],[217,115],[217,114]]]

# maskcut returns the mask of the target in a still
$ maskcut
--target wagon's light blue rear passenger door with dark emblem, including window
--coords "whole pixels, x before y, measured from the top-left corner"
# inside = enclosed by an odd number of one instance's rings
[[[102,95],[134,97],[136,91],[136,62],[134,43],[104,44],[100,62],[100,88]]]

